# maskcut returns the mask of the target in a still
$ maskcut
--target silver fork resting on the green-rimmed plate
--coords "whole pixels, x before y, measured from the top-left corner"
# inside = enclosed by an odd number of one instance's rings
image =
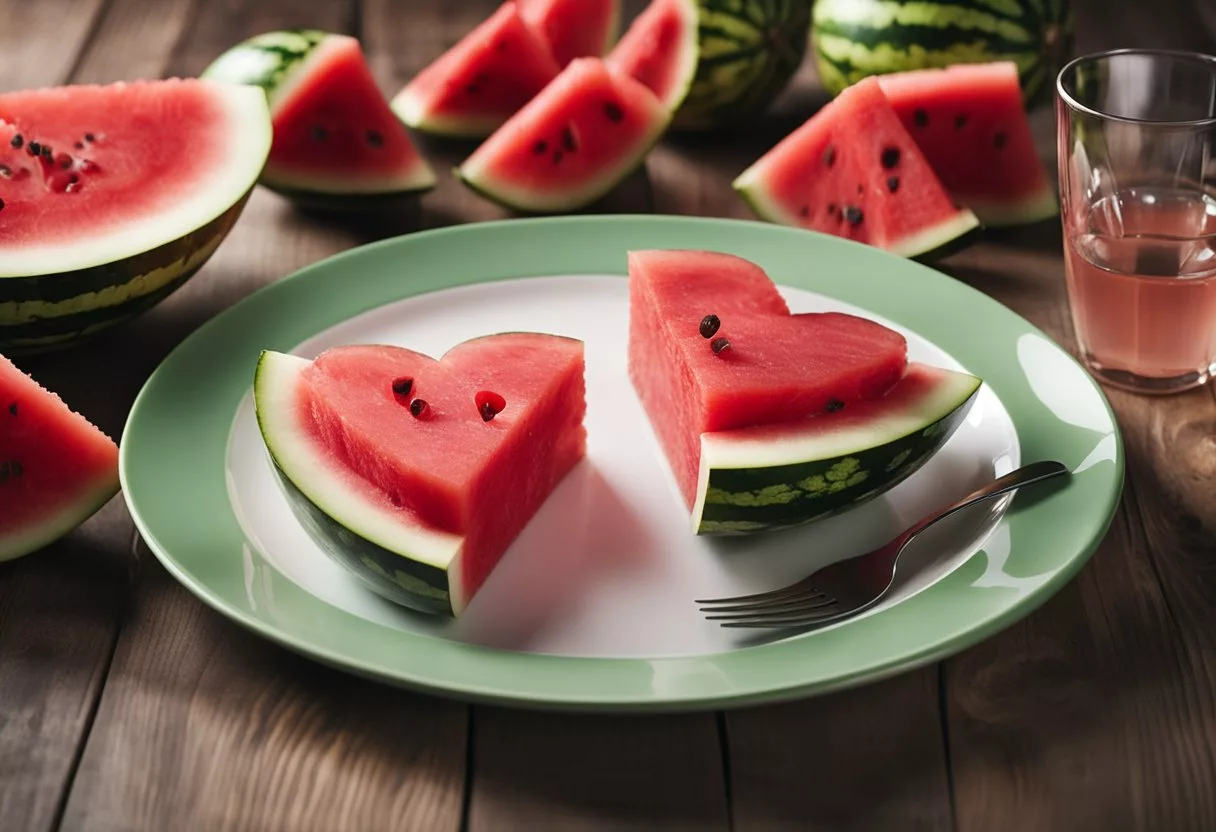
[[[900,555],[927,528],[976,502],[1063,473],[1068,468],[1060,462],[1031,462],[917,521],[872,552],[832,563],[789,586],[696,603],[706,605],[700,611],[713,613],[705,618],[721,622],[721,626],[807,628],[856,615],[890,591]]]

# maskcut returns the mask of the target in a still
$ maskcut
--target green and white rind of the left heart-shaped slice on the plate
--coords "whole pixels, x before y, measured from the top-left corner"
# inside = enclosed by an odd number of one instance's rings
[[[368,589],[404,607],[458,615],[463,538],[423,525],[347,488],[334,462],[295,417],[297,386],[308,359],[263,350],[253,397],[271,466],[293,515],[311,539]]]

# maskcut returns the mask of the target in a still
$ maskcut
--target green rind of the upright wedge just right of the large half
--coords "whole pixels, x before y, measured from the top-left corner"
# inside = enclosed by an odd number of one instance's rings
[[[223,52],[203,71],[201,78],[260,88],[266,94],[274,117],[282,102],[328,57],[330,50],[349,40],[349,35],[320,29],[265,32]],[[433,190],[438,180],[420,153],[417,163],[400,175],[376,175],[362,180],[316,178],[268,162],[259,184],[302,204],[331,210],[358,210],[373,207],[370,201],[377,197],[421,196]]]

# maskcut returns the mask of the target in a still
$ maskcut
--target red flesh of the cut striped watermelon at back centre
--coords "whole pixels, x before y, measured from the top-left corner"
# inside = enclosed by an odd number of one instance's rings
[[[697,21],[696,0],[651,0],[608,64],[646,84],[674,112],[697,73]]]

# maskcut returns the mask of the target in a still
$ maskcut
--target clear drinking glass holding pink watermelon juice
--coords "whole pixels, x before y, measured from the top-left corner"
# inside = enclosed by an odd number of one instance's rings
[[[1216,373],[1216,57],[1115,50],[1057,80],[1069,307],[1102,382],[1176,393]]]

